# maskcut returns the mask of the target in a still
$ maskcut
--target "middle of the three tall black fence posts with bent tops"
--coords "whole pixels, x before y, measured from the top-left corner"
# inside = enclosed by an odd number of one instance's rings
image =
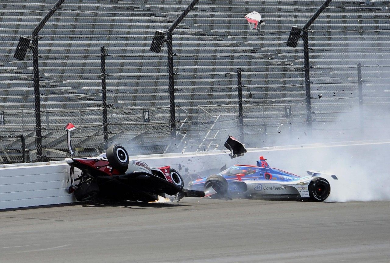
[[[180,22],[187,16],[187,14],[198,4],[199,0],[192,0],[187,8],[176,18],[172,25],[167,31],[167,55],[168,55],[168,82],[169,82],[169,111],[170,111],[170,129],[171,131],[176,130],[176,113],[175,113],[175,77],[173,69],[173,43],[172,43],[172,32],[180,24]],[[171,133],[172,136],[175,134]]]

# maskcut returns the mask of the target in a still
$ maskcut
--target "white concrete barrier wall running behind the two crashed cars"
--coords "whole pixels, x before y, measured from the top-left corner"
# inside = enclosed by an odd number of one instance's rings
[[[355,141],[252,148],[244,156],[235,159],[230,159],[227,151],[139,155],[130,158],[142,160],[151,167],[170,165],[180,170],[180,173],[184,173],[185,168],[190,173],[196,173],[221,168],[225,164],[228,167],[233,164],[255,165],[259,156],[264,155],[271,167],[298,175],[316,169],[350,177],[353,174],[348,172],[359,164],[370,164],[379,172],[375,162],[387,164],[387,155],[379,152],[388,152],[389,146],[388,141]],[[75,202],[73,195],[67,193],[68,175],[69,166],[65,162],[0,166],[0,209]]]

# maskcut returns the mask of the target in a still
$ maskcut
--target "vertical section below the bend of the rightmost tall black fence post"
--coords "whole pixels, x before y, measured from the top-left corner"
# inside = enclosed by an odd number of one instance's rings
[[[312,132],[312,101],[310,95],[310,64],[309,64],[309,42],[307,29],[303,28],[303,68],[305,71],[305,97],[306,97],[306,124],[309,135]]]

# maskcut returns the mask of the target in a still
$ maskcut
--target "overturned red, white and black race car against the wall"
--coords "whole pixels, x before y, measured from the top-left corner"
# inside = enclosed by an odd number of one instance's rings
[[[173,196],[183,191],[183,179],[176,170],[170,166],[149,168],[142,161],[129,160],[126,150],[119,144],[112,145],[107,153],[97,157],[67,158],[66,162],[71,166],[69,193],[74,192],[78,201],[150,202],[158,200],[158,196]],[[77,173],[78,177],[73,180]]]

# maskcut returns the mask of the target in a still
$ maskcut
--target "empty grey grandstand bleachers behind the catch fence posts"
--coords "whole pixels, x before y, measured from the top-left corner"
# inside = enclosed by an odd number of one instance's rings
[[[31,54],[24,61],[12,56],[19,37],[31,35],[54,2],[0,0],[0,111],[5,116],[0,136],[24,134],[31,150]],[[154,31],[167,30],[189,2],[67,0],[62,5],[39,40],[45,148],[66,148],[63,128],[68,122],[79,127],[73,145],[80,152],[102,146],[100,46],[108,54],[109,139],[135,154],[213,150],[227,135],[237,135],[238,67],[243,70],[245,133],[256,138],[246,143],[272,140],[305,125],[302,47],[289,48],[285,42],[291,26],[303,25],[323,1],[201,0],[174,31],[180,147],[168,147],[167,49],[156,54],[149,47]],[[389,6],[384,0],[332,1],[310,27],[312,110],[318,130],[342,112],[349,112],[343,117],[346,125],[356,118],[358,63],[364,66],[365,107],[389,110]],[[266,21],[259,37],[244,18],[252,11]],[[340,100],[331,100],[335,94]],[[290,118],[285,106],[291,106]],[[149,110],[150,122],[143,122],[144,110]]]

